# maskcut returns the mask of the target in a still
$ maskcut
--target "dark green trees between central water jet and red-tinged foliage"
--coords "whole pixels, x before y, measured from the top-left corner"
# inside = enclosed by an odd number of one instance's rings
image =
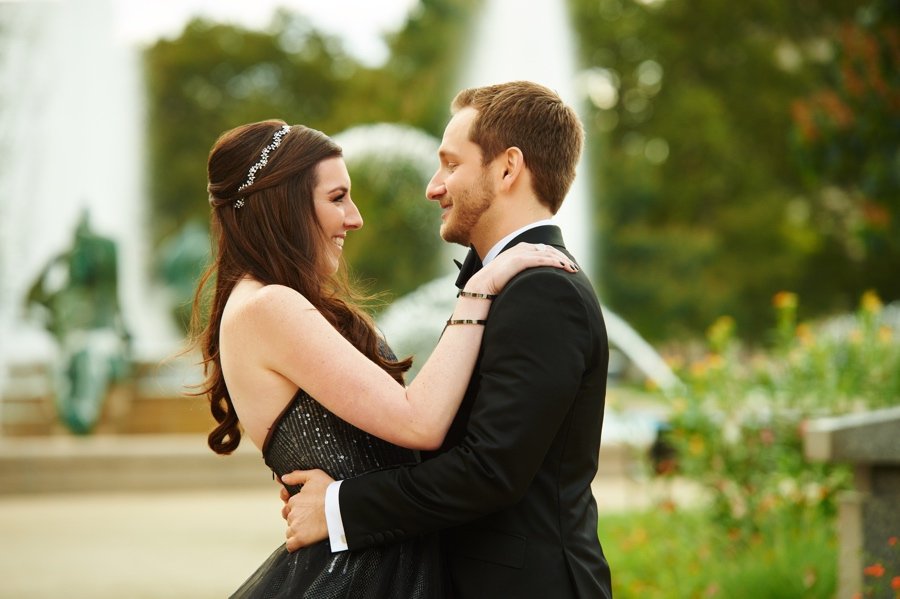
[[[721,314],[752,337],[774,293],[798,285],[825,285],[798,289],[820,298],[811,311],[844,307],[831,298],[846,282],[810,271],[819,244],[791,105],[820,85],[830,32],[862,3],[571,4],[593,100],[606,300],[656,339]]]

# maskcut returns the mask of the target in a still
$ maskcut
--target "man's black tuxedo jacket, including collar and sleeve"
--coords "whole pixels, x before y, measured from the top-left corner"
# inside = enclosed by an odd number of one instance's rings
[[[555,226],[514,239],[562,250]],[[597,539],[609,346],[588,278],[534,268],[493,301],[443,447],[342,483],[350,549],[441,530],[454,596],[612,596]]]

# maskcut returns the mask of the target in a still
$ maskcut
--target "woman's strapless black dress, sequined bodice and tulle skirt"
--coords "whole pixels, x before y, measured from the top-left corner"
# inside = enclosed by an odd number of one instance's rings
[[[303,390],[273,423],[263,458],[279,476],[320,468],[335,480],[416,461],[411,450],[344,422]],[[293,553],[282,545],[232,599],[432,599],[443,596],[442,584],[433,536],[338,553],[323,541]]]

